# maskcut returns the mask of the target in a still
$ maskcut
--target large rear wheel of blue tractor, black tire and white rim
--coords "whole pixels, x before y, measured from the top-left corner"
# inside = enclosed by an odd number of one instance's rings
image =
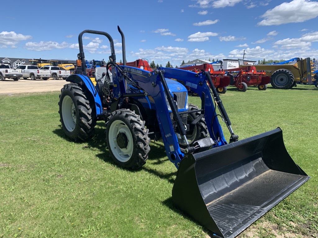
[[[85,90],[86,91],[86,90]],[[74,141],[84,141],[94,134],[96,113],[88,93],[76,83],[64,85],[59,100],[59,115],[67,137]]]

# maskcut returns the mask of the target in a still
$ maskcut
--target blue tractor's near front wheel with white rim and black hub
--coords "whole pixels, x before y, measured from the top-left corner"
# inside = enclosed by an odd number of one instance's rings
[[[139,169],[146,163],[150,151],[145,121],[134,111],[112,112],[106,123],[106,141],[114,162],[126,169]]]

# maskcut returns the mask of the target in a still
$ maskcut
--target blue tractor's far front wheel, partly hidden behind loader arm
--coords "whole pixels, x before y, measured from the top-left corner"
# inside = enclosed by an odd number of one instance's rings
[[[196,105],[189,103],[189,110],[198,110],[199,108]],[[188,113],[187,124],[190,125],[198,116],[201,115],[201,112],[192,112]],[[183,140],[183,137],[179,133],[176,133],[178,144],[181,148],[185,149],[187,147],[186,142]],[[204,139],[208,137],[208,127],[204,118],[202,118],[193,128],[193,130],[187,131],[186,137],[190,146],[193,145],[193,142]]]

